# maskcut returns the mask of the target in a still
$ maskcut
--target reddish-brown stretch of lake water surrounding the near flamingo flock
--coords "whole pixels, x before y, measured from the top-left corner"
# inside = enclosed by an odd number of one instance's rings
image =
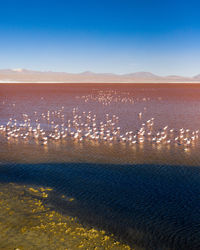
[[[140,86],[140,85],[139,85]],[[0,125],[6,124],[9,118],[17,120],[17,126],[24,122],[23,114],[31,119],[30,126],[36,127],[38,119],[41,128],[49,131],[51,121],[55,125],[67,126],[73,119],[72,110],[77,108],[77,115],[91,111],[96,115],[97,126],[113,115],[119,117],[116,127],[120,126],[121,134],[133,131],[136,134],[142,124],[154,118],[152,135],[145,134],[144,142],[128,144],[102,140],[83,140],[81,143],[71,137],[65,140],[50,140],[46,147],[41,141],[5,138],[0,133],[0,158],[7,162],[97,162],[97,163],[151,163],[198,165],[200,162],[199,138],[194,141],[192,133],[199,129],[200,86],[199,85],[2,85],[0,86]],[[103,96],[103,98],[102,98]],[[62,110],[63,108],[63,110]],[[62,110],[64,118],[50,116],[48,122],[42,114]],[[34,112],[37,112],[35,115]],[[142,112],[141,118],[138,114]],[[13,122],[14,123],[14,122]],[[145,125],[146,126],[146,125]],[[167,128],[166,144],[152,142],[151,139],[163,128]],[[189,129],[184,134],[190,144],[175,141],[180,129]],[[82,129],[82,128],[81,128]],[[97,127],[97,129],[99,129]],[[171,135],[169,130],[174,129]],[[145,127],[146,132],[147,128]],[[159,136],[158,136],[159,137]],[[32,152],[34,151],[34,155]],[[59,159],[59,160],[58,160]]]

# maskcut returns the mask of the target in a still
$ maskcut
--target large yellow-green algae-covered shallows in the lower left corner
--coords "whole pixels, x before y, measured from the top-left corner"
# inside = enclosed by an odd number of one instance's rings
[[[44,201],[52,189],[16,184],[0,184],[0,189],[1,249],[131,249],[104,230],[50,210]]]

